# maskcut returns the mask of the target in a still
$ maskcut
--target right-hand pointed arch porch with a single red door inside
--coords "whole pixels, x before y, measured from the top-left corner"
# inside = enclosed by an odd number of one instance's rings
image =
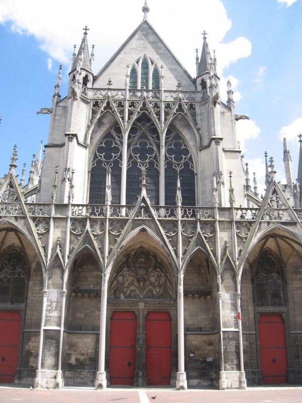
[[[299,230],[278,224],[259,233],[240,277],[244,359],[249,384],[299,383],[302,322],[297,315],[302,275]],[[264,329],[264,330],[263,330]],[[264,335],[271,334],[268,339]],[[275,343],[274,346],[271,346]],[[268,355],[264,355],[267,352]],[[282,357],[278,352],[282,352]]]

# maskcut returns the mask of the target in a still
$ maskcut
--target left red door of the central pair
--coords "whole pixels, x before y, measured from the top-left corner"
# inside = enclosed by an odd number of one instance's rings
[[[133,385],[136,349],[134,312],[114,312],[110,322],[109,372],[111,385]]]

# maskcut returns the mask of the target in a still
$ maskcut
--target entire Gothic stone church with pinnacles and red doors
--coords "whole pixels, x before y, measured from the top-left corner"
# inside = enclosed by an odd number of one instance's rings
[[[261,197],[206,34],[192,78],[142,11],[98,73],[85,28],[43,162],[1,180],[0,382],[301,383],[302,163],[284,141]]]

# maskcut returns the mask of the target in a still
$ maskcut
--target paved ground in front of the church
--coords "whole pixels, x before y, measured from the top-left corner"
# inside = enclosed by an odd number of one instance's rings
[[[154,398],[155,397],[155,398]],[[0,403],[302,403],[302,387],[251,387],[246,390],[63,388],[30,390],[0,386]]]

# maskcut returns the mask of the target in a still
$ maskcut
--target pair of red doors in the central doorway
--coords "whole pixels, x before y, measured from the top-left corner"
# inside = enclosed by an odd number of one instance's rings
[[[137,319],[134,312],[114,312],[110,322],[109,372],[112,385],[133,385]],[[145,369],[148,385],[169,385],[172,369],[171,317],[148,312],[145,318]],[[143,359],[144,357],[141,357]]]

